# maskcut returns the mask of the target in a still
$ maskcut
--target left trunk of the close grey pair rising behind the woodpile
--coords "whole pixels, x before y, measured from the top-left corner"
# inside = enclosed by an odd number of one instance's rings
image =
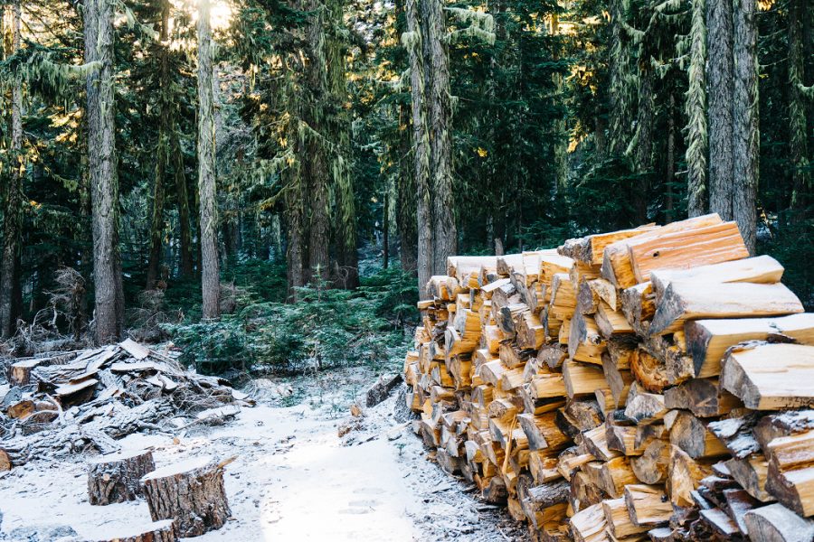
[[[710,0],[706,5],[709,57],[709,210],[734,220],[733,0]]]

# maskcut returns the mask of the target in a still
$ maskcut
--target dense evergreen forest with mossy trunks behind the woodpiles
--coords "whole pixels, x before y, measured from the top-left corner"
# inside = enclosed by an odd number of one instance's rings
[[[396,359],[453,254],[718,212],[814,306],[807,0],[2,3],[7,354]]]

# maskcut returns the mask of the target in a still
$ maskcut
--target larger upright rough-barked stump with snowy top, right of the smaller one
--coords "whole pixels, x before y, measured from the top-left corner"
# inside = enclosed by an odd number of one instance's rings
[[[194,457],[141,479],[154,521],[175,519],[181,537],[197,537],[221,528],[232,515],[223,488],[223,464]]]

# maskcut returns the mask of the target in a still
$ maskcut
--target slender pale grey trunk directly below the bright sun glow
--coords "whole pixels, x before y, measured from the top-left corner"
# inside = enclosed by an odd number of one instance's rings
[[[218,207],[215,188],[215,126],[212,87],[210,0],[199,0],[198,13],[198,192],[200,197],[202,316],[221,316],[218,261]]]

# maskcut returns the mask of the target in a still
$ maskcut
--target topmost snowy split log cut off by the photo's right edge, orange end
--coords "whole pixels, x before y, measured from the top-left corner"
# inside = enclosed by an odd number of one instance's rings
[[[814,313],[776,318],[696,320],[686,322],[686,346],[693,358],[696,377],[721,374],[726,349],[743,341],[766,341],[787,336],[800,344],[814,345]]]

